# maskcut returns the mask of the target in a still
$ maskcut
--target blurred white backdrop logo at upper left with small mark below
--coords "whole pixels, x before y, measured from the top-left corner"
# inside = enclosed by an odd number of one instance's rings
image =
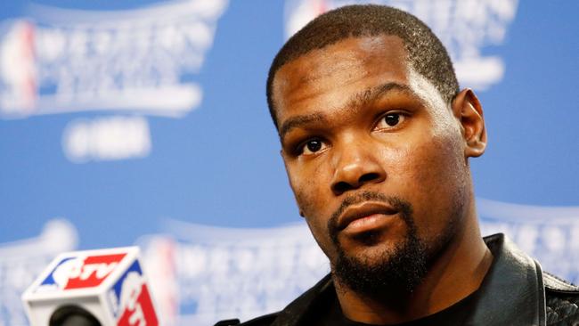
[[[227,0],[110,12],[31,6],[30,19],[0,25],[0,117],[127,113],[75,121],[68,130],[77,132],[63,135],[64,151],[74,162],[146,156],[151,140],[142,116],[181,118],[200,105],[203,92],[193,80],[226,6]]]

